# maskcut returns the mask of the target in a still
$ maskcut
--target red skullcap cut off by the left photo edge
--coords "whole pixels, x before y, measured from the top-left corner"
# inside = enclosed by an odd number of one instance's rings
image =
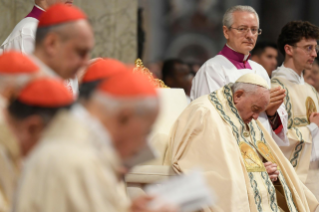
[[[34,74],[39,67],[28,56],[17,51],[8,51],[0,55],[0,74]]]

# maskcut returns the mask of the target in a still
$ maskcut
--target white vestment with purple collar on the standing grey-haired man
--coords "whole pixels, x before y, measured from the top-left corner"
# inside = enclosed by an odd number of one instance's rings
[[[210,94],[228,83],[234,83],[239,77],[248,73],[260,75],[270,87],[270,79],[266,70],[258,63],[247,58],[248,55],[237,53],[225,45],[218,55],[206,61],[197,72],[193,79],[191,100]],[[288,114],[285,110],[285,105],[282,104],[277,112],[283,126],[281,132],[278,134],[272,130],[265,112],[259,115],[258,120],[264,125],[265,129],[272,135],[279,146],[287,146],[289,145],[286,135]]]

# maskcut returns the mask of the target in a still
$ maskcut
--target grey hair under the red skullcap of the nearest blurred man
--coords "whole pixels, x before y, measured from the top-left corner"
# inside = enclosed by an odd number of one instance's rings
[[[157,97],[116,98],[100,91],[94,92],[92,99],[101,103],[111,115],[125,108],[132,108],[136,115],[144,116],[153,112],[159,105]]]

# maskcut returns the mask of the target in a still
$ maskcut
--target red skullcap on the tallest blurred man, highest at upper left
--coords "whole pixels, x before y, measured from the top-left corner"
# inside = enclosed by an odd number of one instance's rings
[[[75,6],[55,4],[40,16],[38,27],[49,27],[86,19],[85,13]]]

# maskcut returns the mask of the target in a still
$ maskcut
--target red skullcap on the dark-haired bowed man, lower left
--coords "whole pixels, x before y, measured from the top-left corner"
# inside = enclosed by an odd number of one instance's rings
[[[38,78],[28,83],[17,99],[27,105],[56,108],[73,103],[74,97],[62,81],[53,78]]]

